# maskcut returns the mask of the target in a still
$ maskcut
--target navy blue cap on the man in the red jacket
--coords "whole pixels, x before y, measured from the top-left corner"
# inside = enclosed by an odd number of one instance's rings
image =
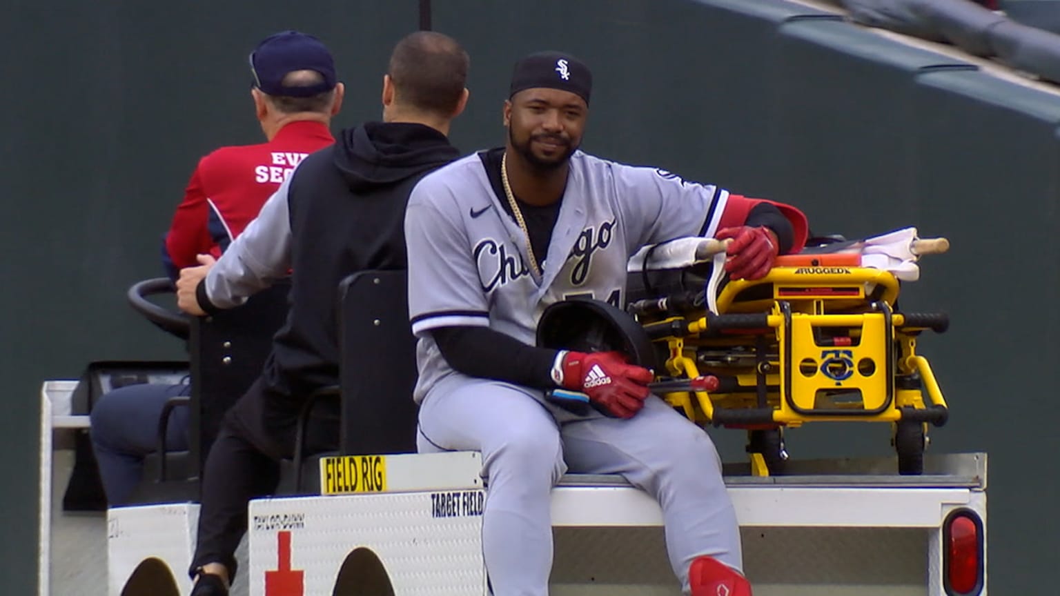
[[[286,87],[283,77],[296,70],[315,70],[323,83]],[[312,35],[282,31],[266,37],[250,53],[250,72],[254,87],[269,95],[308,98],[335,88],[335,60],[331,52]]]

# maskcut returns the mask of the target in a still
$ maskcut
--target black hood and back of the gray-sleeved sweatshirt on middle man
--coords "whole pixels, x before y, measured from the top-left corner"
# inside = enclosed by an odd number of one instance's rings
[[[405,208],[416,183],[459,157],[435,128],[366,123],[306,157],[292,175],[290,310],[264,381],[299,398],[338,384],[339,282],[364,269],[405,269]]]

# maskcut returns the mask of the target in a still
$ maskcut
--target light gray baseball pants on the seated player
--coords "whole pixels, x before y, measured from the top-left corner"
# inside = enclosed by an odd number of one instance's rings
[[[546,596],[552,567],[549,493],[566,470],[621,474],[661,506],[667,551],[688,593],[692,560],[742,572],[740,532],[706,433],[652,396],[629,420],[579,418],[541,391],[452,375],[420,408],[421,452],[479,451],[482,544],[495,596]]]

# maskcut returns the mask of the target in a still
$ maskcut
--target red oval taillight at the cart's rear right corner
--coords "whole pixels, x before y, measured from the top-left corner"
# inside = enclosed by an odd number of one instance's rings
[[[983,521],[971,510],[950,513],[942,527],[946,593],[974,596],[983,591]]]

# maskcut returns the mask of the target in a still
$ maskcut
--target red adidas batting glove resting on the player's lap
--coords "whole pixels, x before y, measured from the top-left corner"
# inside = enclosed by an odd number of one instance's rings
[[[621,352],[567,352],[563,356],[563,387],[581,391],[605,416],[633,418],[644,406],[647,368],[628,364]]]

